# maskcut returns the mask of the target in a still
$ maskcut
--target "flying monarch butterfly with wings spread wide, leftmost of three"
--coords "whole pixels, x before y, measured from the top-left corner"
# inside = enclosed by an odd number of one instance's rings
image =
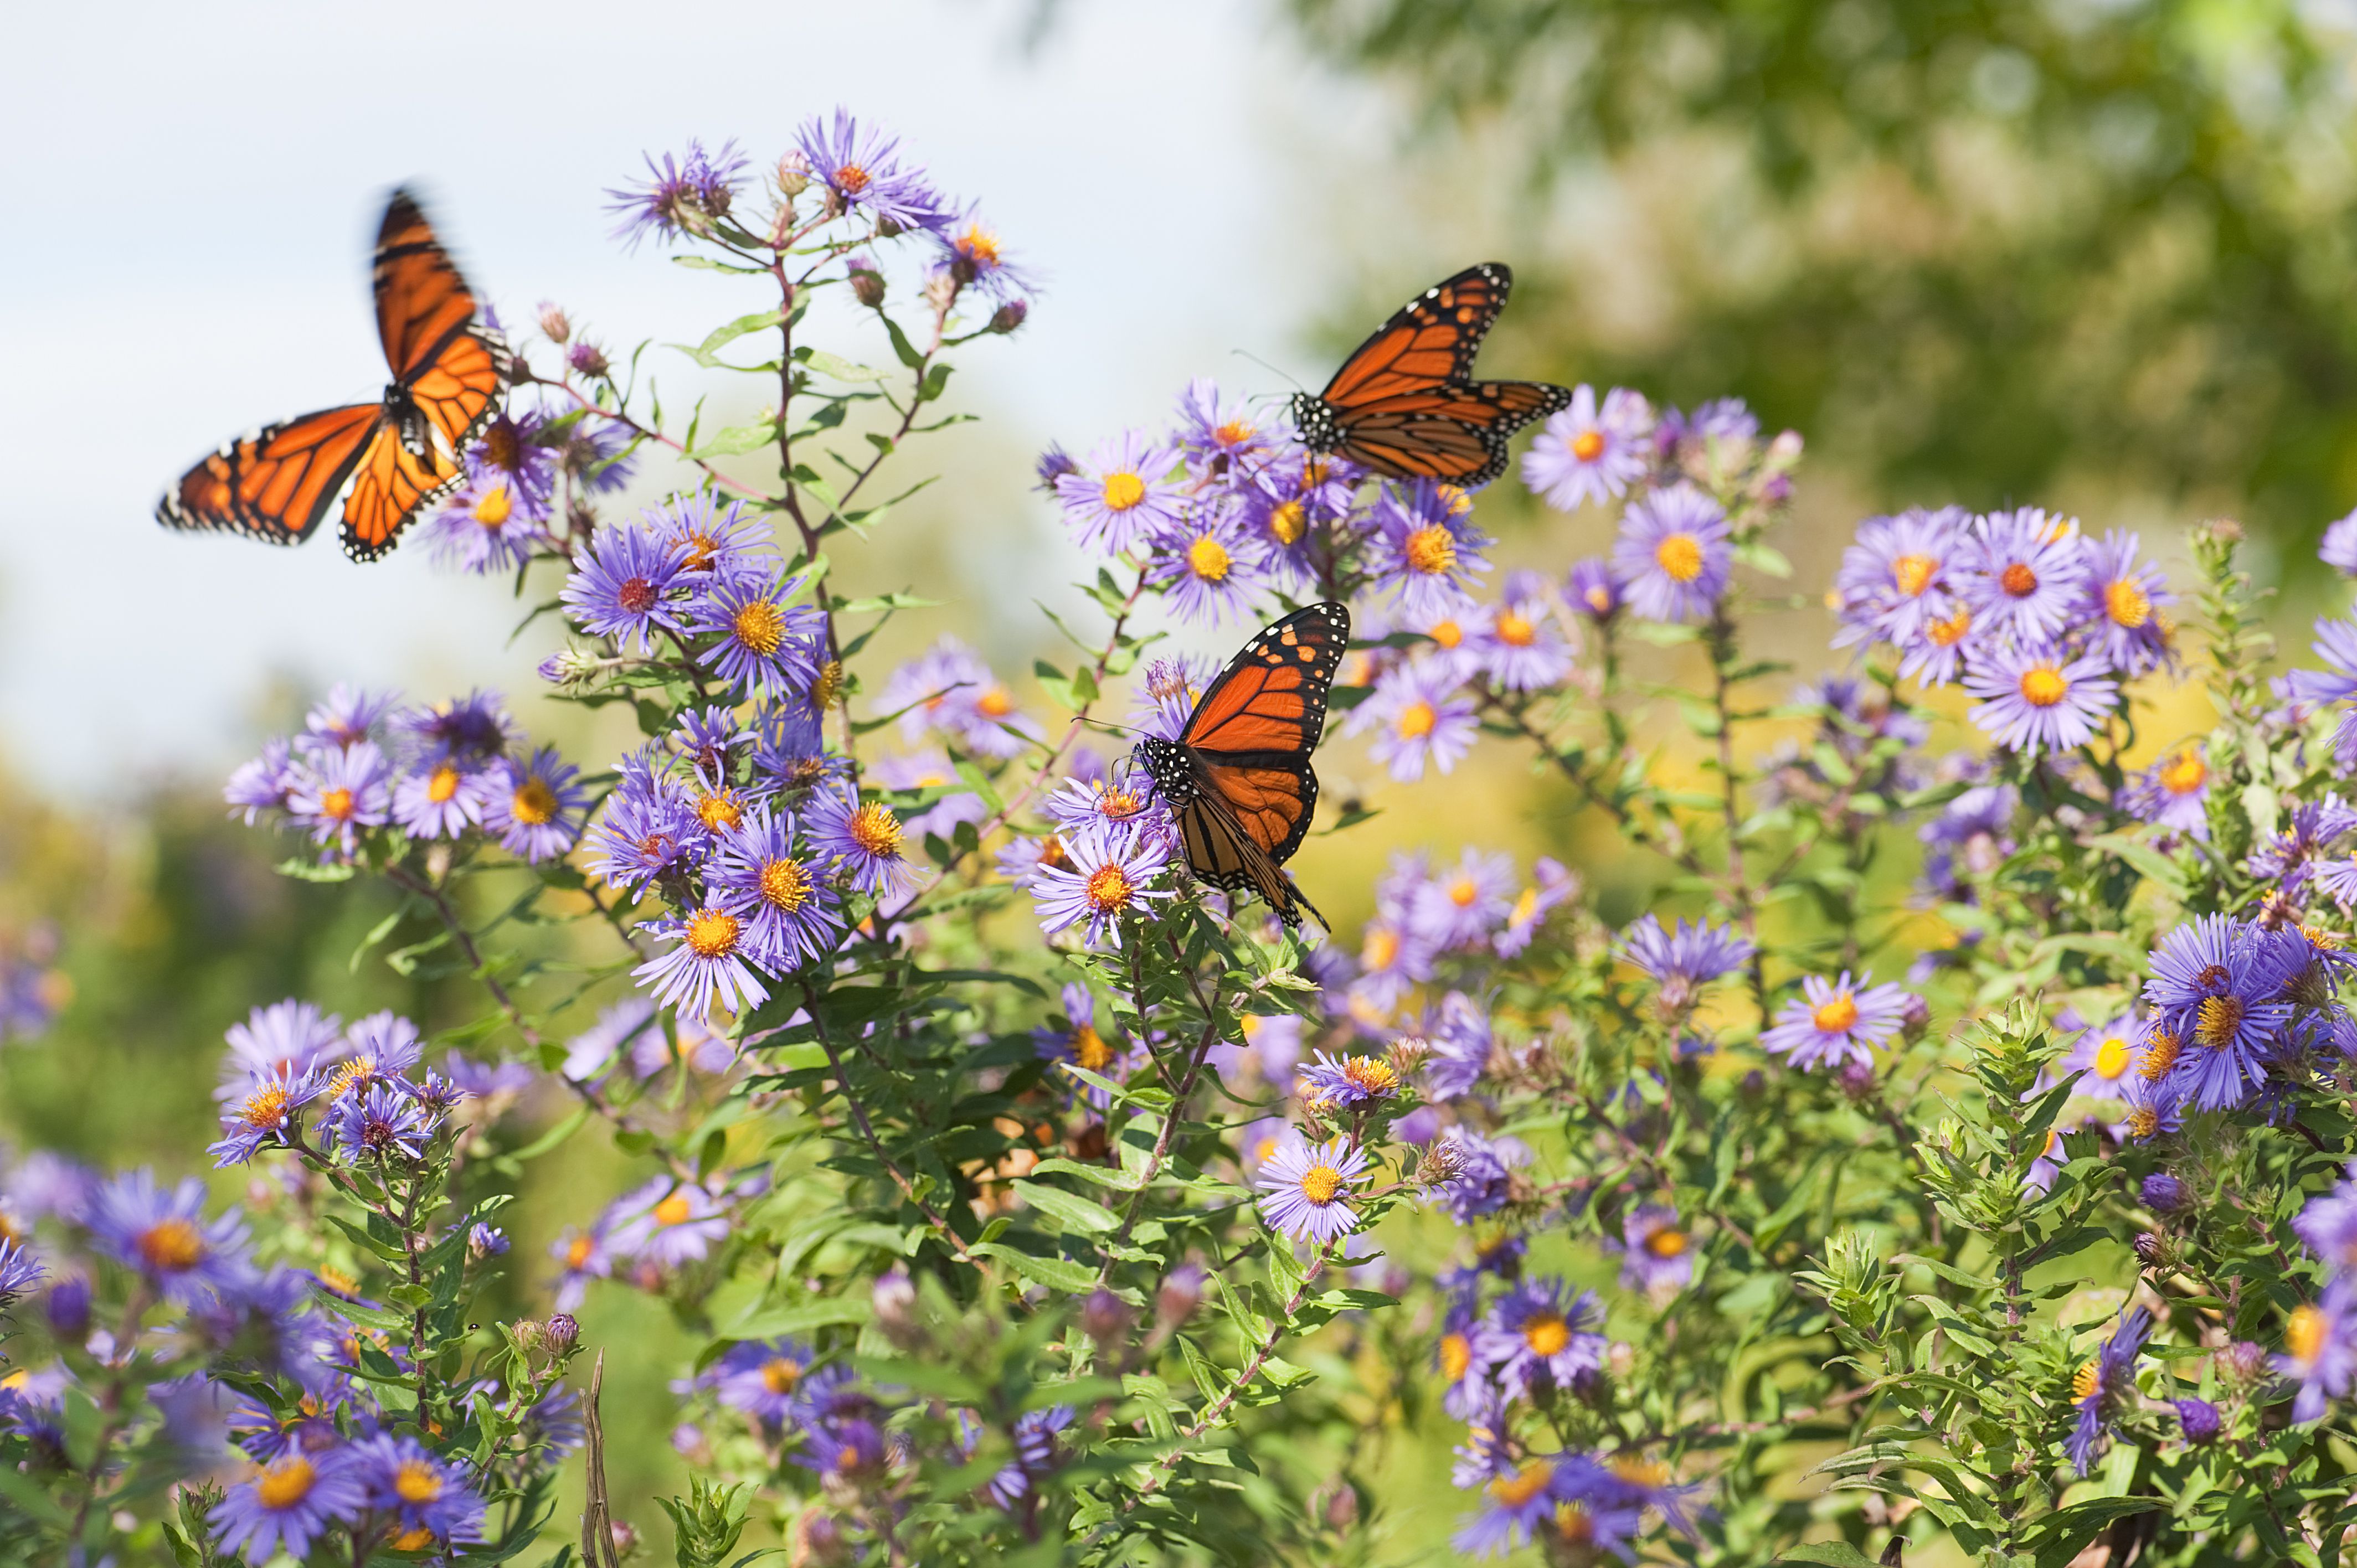
[[[460,453],[500,410],[511,363],[408,191],[384,205],[375,290],[394,370],[384,398],[231,441],[165,490],[158,523],[299,545],[344,498],[344,554],[375,561],[420,507],[457,488]]]

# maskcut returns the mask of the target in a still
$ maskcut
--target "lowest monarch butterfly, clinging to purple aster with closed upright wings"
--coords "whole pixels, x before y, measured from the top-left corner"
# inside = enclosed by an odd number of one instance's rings
[[[1263,627],[1195,703],[1176,740],[1138,740],[1138,762],[1178,818],[1188,865],[1230,894],[1252,889],[1289,927],[1332,922],[1280,870],[1318,809],[1310,752],[1327,689],[1351,644],[1351,608],[1313,604]]]

